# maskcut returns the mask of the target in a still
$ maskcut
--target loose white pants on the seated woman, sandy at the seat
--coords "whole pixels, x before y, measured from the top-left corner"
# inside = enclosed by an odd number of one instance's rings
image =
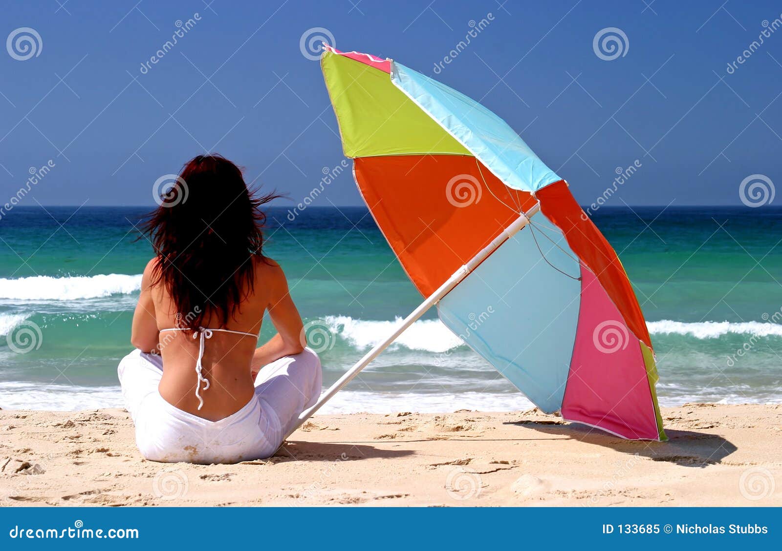
[[[136,427],[138,450],[149,460],[167,463],[238,463],[270,457],[321,393],[321,361],[309,348],[262,368],[255,396],[220,421],[199,418],[163,400],[157,389],[163,375],[160,356],[133,350],[120,361],[117,373]]]

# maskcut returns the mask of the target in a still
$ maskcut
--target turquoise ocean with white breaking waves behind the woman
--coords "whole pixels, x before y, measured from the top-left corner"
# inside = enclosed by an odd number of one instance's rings
[[[117,363],[152,256],[135,240],[146,211],[16,207],[0,219],[0,407],[121,406]],[[267,209],[267,254],[325,339],[329,385],[421,297],[366,208],[288,213]],[[662,405],[782,402],[782,209],[603,207],[592,217],[639,297]],[[271,334],[264,323],[261,340]],[[321,412],[530,406],[432,309]]]

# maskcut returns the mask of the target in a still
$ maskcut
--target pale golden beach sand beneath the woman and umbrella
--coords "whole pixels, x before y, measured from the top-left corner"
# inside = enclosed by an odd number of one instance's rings
[[[537,411],[317,416],[270,460],[201,466],[144,460],[124,410],[0,411],[0,504],[782,505],[782,405],[662,416],[668,443]]]

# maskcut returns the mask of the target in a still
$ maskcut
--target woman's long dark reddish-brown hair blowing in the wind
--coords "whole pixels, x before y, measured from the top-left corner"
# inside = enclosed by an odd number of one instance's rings
[[[195,331],[211,315],[225,325],[242,290],[253,292],[255,261],[264,258],[260,206],[276,197],[250,191],[221,155],[192,158],[161,194],[142,228],[157,255],[151,284],[166,286],[180,327]]]

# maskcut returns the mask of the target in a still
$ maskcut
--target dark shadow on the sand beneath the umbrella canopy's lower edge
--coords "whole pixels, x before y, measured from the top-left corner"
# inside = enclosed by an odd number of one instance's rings
[[[708,432],[666,430],[668,442],[624,440],[597,429],[565,421],[514,421],[504,425],[518,425],[548,435],[557,435],[579,442],[606,446],[621,453],[636,453],[653,461],[668,461],[682,467],[706,467],[719,464],[737,450],[733,443],[720,435]],[[521,437],[523,438],[523,437]]]

